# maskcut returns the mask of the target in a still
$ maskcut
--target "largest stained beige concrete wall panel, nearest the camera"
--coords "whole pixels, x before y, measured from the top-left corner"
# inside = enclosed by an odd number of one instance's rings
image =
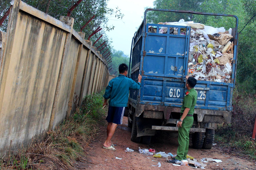
[[[0,151],[26,145],[47,130],[66,33],[33,16],[18,14],[0,112]],[[8,48],[8,47],[7,47]],[[7,65],[7,63],[5,63]],[[8,127],[8,128],[7,128]],[[15,149],[14,149],[15,150]]]

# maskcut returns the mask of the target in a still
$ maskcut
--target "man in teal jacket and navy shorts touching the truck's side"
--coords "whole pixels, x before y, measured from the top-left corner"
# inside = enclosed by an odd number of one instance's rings
[[[107,105],[109,99],[108,121],[107,126],[107,139],[103,144],[104,149],[116,150],[111,142],[111,138],[115,133],[117,125],[122,124],[124,108],[127,106],[129,89],[138,90],[141,88],[141,78],[139,74],[138,82],[136,83],[132,79],[126,77],[128,73],[128,66],[126,64],[120,64],[119,76],[110,80],[106,88],[105,98],[103,106]]]

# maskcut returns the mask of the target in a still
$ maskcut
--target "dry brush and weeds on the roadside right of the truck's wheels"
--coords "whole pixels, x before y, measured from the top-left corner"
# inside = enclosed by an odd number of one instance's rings
[[[256,142],[251,140],[256,116],[256,96],[242,90],[234,90],[231,124],[218,126],[215,142],[236,155],[256,160]]]

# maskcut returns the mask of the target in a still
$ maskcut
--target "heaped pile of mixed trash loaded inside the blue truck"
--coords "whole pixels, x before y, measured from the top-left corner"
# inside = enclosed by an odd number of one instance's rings
[[[158,23],[165,25],[190,26],[190,49],[188,75],[197,80],[231,82],[232,62],[234,55],[232,29],[214,28],[193,21]],[[167,34],[168,27],[161,27],[160,34]],[[149,27],[149,32],[156,28]],[[170,28],[170,34],[177,35],[178,28]],[[186,29],[180,29],[180,35],[186,35]]]

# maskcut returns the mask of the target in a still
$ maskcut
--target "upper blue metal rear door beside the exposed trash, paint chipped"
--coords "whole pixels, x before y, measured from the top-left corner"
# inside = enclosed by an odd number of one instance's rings
[[[156,27],[156,33],[148,32],[150,26]],[[170,34],[172,25],[164,27],[167,34],[159,33],[159,28],[162,28],[160,24],[146,25],[143,75],[182,77],[189,54],[190,27],[175,26],[178,28],[177,35]],[[181,29],[186,30],[186,35],[180,34]]]

